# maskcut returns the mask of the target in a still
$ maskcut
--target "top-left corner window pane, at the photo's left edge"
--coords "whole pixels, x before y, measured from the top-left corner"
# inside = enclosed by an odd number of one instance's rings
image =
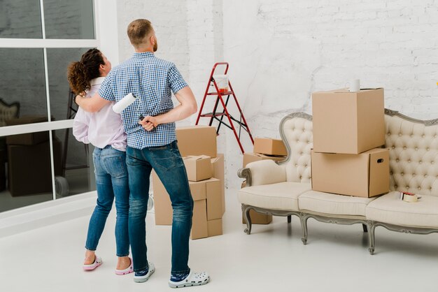
[[[0,38],[43,38],[39,0],[1,0]]]

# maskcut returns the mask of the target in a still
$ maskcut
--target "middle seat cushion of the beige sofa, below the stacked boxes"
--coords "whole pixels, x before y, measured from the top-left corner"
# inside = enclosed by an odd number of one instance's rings
[[[362,198],[323,193],[322,191],[306,191],[299,196],[299,210],[324,214],[365,216],[365,207],[374,198]]]

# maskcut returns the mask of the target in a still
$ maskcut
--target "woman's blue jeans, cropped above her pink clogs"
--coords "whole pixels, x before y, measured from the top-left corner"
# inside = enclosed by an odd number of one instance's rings
[[[115,244],[117,256],[129,255],[128,213],[129,185],[126,153],[110,145],[94,148],[94,174],[96,175],[97,205],[88,226],[86,249],[96,250],[104,231],[115,198]]]

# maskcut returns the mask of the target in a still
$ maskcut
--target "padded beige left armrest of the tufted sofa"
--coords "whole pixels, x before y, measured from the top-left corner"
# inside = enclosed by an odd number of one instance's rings
[[[279,166],[272,160],[260,160],[248,163],[246,168],[239,169],[237,175],[246,179],[247,187],[286,181],[285,167]]]

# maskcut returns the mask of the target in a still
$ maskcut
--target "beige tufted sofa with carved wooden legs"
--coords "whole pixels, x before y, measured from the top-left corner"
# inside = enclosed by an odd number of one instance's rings
[[[438,119],[421,121],[385,110],[386,145],[390,149],[390,192],[360,198],[311,190],[312,117],[295,112],[283,118],[281,138],[288,149],[285,161],[249,163],[239,170],[246,178],[239,190],[245,232],[251,232],[250,210],[299,217],[307,242],[307,220],[362,224],[374,254],[374,229],[383,226],[404,233],[438,232]],[[398,191],[421,195],[417,203],[397,198]]]

